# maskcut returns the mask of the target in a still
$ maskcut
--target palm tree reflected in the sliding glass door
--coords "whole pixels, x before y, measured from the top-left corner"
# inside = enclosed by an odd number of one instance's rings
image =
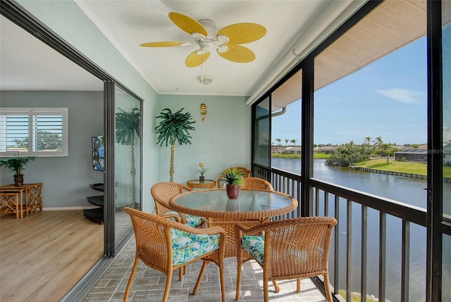
[[[116,141],[130,146],[130,175],[132,176],[132,207],[136,204],[136,168],[135,168],[135,137],[140,137],[140,109],[133,108],[130,112],[118,108],[116,113]]]

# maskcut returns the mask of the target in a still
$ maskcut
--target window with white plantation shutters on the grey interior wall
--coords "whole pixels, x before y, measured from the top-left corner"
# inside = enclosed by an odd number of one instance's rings
[[[0,156],[68,156],[68,108],[0,108]]]

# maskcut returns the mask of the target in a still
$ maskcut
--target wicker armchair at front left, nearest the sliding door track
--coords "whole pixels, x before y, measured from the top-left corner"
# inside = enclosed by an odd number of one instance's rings
[[[128,301],[139,260],[149,268],[159,270],[166,275],[163,302],[168,301],[173,270],[178,270],[196,260],[203,260],[199,277],[192,290],[192,294],[195,295],[199,291],[206,265],[215,263],[219,268],[221,298],[223,302],[226,301],[224,252],[227,234],[224,229],[221,227],[197,229],[164,216],[144,213],[128,207],[123,211],[130,215],[136,240],[135,263],[125,289],[124,302]]]

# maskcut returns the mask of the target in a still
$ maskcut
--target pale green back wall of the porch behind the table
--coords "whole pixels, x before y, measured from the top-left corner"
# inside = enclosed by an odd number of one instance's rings
[[[195,172],[204,163],[206,179],[216,180],[231,165],[250,168],[250,108],[240,96],[160,95],[158,108],[175,112],[185,108],[196,122],[190,132],[192,144],[175,145],[174,182],[185,183],[199,177]],[[202,122],[200,104],[206,105],[206,121]],[[160,119],[154,118],[158,125]],[[159,180],[169,181],[170,146],[160,148]]]

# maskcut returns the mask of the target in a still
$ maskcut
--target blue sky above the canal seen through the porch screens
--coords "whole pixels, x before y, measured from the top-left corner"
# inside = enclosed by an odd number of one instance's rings
[[[314,144],[425,144],[427,130],[426,38],[315,92]],[[272,141],[300,144],[300,101],[273,118]],[[290,144],[290,143],[289,143]]]

